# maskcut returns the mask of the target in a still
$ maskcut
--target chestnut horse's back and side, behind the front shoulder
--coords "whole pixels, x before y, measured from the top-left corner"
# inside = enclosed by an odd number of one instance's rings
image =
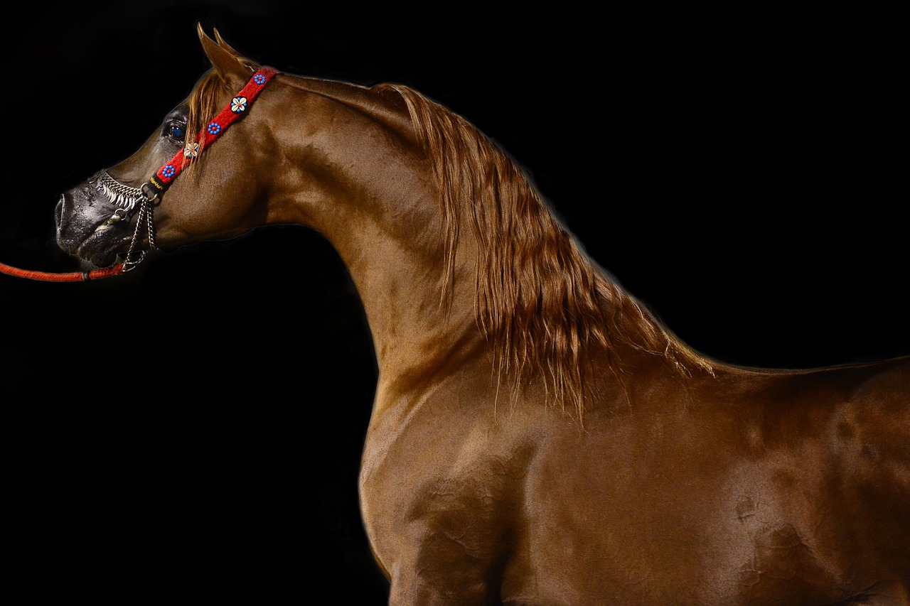
[[[635,379],[535,431],[518,602],[904,603],[910,359]]]

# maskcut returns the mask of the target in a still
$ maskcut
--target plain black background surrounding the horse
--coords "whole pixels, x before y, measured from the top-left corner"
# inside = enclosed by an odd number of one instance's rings
[[[571,5],[28,5],[5,18],[0,261],[76,268],[60,192],[187,95],[201,22],[260,63],[466,116],[713,358],[905,355],[905,41],[863,16],[657,31]],[[0,276],[0,305],[4,591],[385,601],[357,496],[376,366],[319,235],[269,227],[89,284]]]

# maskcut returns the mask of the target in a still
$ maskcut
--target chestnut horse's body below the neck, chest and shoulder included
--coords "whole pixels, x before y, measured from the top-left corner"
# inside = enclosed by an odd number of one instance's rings
[[[904,603],[907,361],[650,366],[584,432],[458,379],[374,418],[361,494],[396,603]]]

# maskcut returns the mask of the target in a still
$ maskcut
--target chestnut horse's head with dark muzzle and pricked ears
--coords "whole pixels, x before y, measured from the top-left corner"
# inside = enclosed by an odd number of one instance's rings
[[[234,104],[238,112],[245,112],[246,99],[236,95],[258,66],[227,45],[217,31],[216,39],[201,27],[198,34],[212,67],[193,94],[168,112],[161,127],[131,157],[60,197],[56,239],[67,253],[107,267],[127,252],[237,236],[265,223],[266,197],[260,178],[264,173],[254,166],[268,153],[263,143],[268,137],[268,113],[243,116],[247,125],[226,131],[224,142],[199,156],[200,144],[205,146],[207,137],[209,143],[213,140],[206,128],[218,128],[204,122],[232,101],[238,102]],[[170,176],[172,169],[167,166],[175,158],[186,170],[169,187],[163,181]],[[204,165],[217,168],[205,170]]]

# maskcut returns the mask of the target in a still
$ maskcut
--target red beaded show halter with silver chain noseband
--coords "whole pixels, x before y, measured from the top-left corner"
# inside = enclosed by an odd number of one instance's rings
[[[229,126],[244,116],[253,101],[262,92],[262,89],[268,85],[272,77],[278,74],[277,69],[272,67],[260,67],[255,74],[249,79],[246,86],[240,89],[240,92],[234,96],[230,103],[221,110],[221,112],[212,118],[212,120],[199,131],[197,141],[187,143],[183,149],[178,151],[174,157],[168,160],[157,172],[152,175],[141,187],[127,186],[120,183],[114,177],[107,174],[102,169],[90,178],[89,183],[96,186],[96,190],[102,192],[117,208],[114,213],[107,219],[106,226],[112,226],[119,223],[124,218],[132,217],[134,210],[138,206],[139,215],[136,219],[136,231],[130,242],[129,250],[123,262],[123,271],[128,271],[136,267],[146,256],[146,251],[140,251],[138,258],[134,258],[134,252],[139,241],[139,235],[143,227],[143,218],[146,219],[145,226],[148,232],[148,244],[150,249],[155,249],[155,228],[154,228],[154,202],[157,197],[167,191],[167,187],[174,182],[174,179],[183,172],[184,167],[196,159],[205,149],[215,143],[218,137],[224,135]]]

